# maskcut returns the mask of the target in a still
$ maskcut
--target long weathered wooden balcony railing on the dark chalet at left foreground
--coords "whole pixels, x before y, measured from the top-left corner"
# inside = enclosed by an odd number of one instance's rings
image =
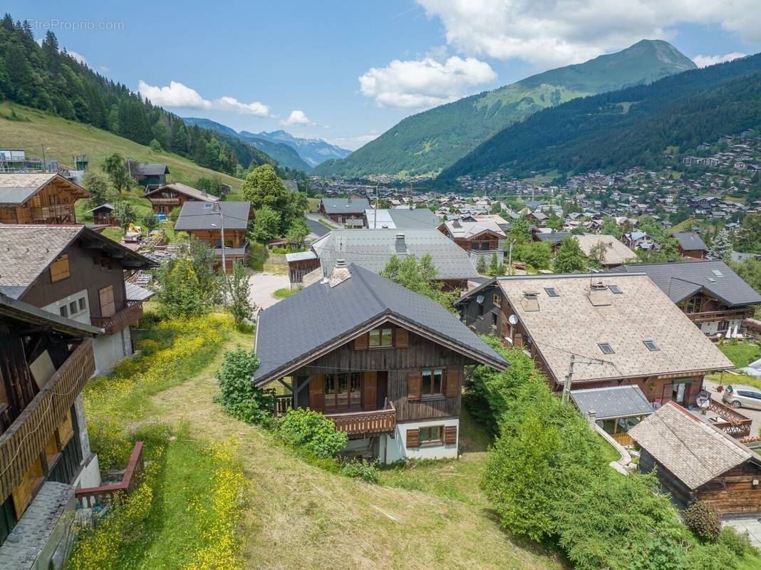
[[[10,495],[24,479],[94,371],[92,339],[88,338],[0,435],[0,497]]]

